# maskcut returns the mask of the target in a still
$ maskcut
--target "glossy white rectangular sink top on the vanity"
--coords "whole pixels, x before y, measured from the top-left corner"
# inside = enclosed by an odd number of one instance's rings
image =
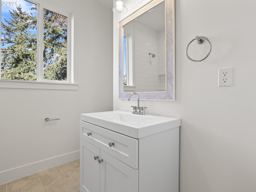
[[[81,120],[133,137],[142,138],[180,126],[180,119],[157,115],[136,115],[127,111],[81,114]]]

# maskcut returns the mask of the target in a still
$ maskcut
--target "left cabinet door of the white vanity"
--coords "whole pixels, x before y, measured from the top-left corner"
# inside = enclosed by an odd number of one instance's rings
[[[100,149],[80,139],[80,191],[100,192]]]

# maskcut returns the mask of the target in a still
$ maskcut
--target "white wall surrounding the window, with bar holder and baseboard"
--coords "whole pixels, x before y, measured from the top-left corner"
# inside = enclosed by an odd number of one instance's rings
[[[80,114],[113,108],[112,10],[93,0],[52,2],[74,14],[78,90],[0,88],[0,184],[78,159]]]

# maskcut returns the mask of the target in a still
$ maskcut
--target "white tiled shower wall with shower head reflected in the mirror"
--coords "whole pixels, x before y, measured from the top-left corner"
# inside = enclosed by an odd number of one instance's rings
[[[134,26],[136,92],[165,91],[165,30],[155,31],[136,21]]]

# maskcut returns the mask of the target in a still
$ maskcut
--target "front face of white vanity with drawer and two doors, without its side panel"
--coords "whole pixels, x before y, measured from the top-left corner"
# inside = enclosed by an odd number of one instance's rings
[[[138,140],[82,121],[80,137],[81,192],[138,192],[138,168],[118,160],[138,162]]]

